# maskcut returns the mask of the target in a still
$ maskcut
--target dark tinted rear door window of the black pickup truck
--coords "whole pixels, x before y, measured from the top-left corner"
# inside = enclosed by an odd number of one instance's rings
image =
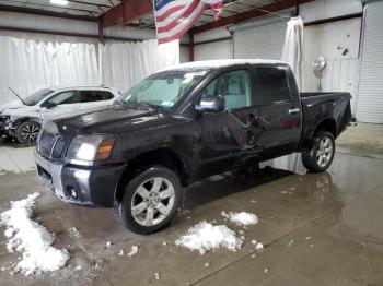
[[[255,81],[256,105],[272,105],[290,100],[290,90],[283,68],[257,68]]]

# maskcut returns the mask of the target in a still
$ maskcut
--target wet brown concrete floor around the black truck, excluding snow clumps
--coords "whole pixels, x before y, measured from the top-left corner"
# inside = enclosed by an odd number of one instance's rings
[[[378,127],[382,132],[383,127]],[[374,138],[358,128],[367,139]],[[347,132],[356,132],[350,129]],[[382,146],[369,150],[363,142],[352,142],[351,148],[348,140],[341,140],[346,143],[324,174],[303,175],[301,166],[293,172],[266,168],[244,181],[228,174],[196,183],[174,223],[147,237],[126,230],[111,210],[68,205],[42,188],[31,170],[32,148],[0,147],[0,211],[11,200],[42,192],[35,217],[56,234],[55,247],[71,254],[68,265],[54,275],[11,276],[5,271],[0,272],[0,284],[383,285]],[[224,223],[221,211],[247,211],[260,218],[245,230],[241,250],[200,255],[174,245],[202,219]],[[254,251],[252,239],[265,245],[264,252]],[[5,241],[2,233],[0,241]],[[111,248],[106,241],[113,242]],[[120,249],[128,252],[132,245],[140,247],[139,254],[118,257]],[[0,266],[16,260],[18,254],[8,253],[1,243]],[[78,265],[81,271],[74,270]]]

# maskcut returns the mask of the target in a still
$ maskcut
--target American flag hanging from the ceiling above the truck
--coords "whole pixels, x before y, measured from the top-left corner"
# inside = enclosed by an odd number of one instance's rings
[[[181,38],[208,8],[217,19],[222,4],[223,0],[153,0],[158,41]]]

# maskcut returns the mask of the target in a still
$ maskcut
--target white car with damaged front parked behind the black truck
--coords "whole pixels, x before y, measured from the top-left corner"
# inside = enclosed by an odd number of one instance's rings
[[[19,105],[0,105],[0,135],[15,138],[20,143],[34,142],[45,118],[104,107],[119,96],[118,91],[102,86],[44,88],[20,99]]]

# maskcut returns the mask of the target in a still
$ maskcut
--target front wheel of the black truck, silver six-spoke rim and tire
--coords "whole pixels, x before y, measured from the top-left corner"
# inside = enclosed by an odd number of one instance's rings
[[[116,211],[125,227],[139,235],[150,235],[169,226],[181,202],[177,175],[165,167],[152,166],[126,184]]]

